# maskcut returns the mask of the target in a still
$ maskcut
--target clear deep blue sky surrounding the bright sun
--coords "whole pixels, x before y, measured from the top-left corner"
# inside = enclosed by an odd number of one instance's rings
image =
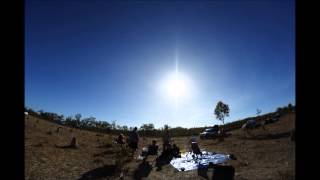
[[[25,105],[199,127],[295,104],[294,1],[25,2]],[[188,92],[163,90],[176,68]]]

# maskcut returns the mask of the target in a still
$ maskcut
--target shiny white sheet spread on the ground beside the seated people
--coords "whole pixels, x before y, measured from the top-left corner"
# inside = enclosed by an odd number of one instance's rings
[[[178,171],[189,171],[198,169],[199,167],[207,167],[210,162],[213,164],[221,164],[230,160],[230,156],[227,154],[217,154],[214,152],[202,151],[202,156],[198,155],[198,159],[193,158],[192,152],[186,152],[181,154],[181,158],[174,158],[170,161],[170,164]]]

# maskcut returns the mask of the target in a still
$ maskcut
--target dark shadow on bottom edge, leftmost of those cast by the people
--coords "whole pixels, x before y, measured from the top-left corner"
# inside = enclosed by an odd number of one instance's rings
[[[115,165],[105,165],[86,172],[81,176],[79,180],[88,180],[88,179],[100,179],[104,177],[114,176],[116,173],[117,167]]]

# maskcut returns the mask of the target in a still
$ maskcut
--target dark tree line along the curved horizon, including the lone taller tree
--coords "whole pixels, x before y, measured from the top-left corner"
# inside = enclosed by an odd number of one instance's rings
[[[71,128],[95,131],[100,133],[109,133],[109,134],[123,133],[127,135],[129,131],[131,131],[134,128],[134,127],[128,127],[126,125],[120,126],[116,124],[115,121],[108,122],[108,121],[97,120],[95,117],[82,118],[82,115],[80,113],[75,114],[74,116],[65,117],[62,114],[57,114],[53,112],[44,112],[43,110],[35,111],[32,108],[27,108],[27,107],[25,107],[25,111],[28,112],[28,114],[31,116],[34,116],[43,120],[47,120],[59,125],[68,126]],[[292,111],[295,111],[295,107],[289,104],[288,106],[277,108],[277,110],[272,113],[264,114],[261,116],[258,115],[256,117],[248,117],[242,120],[224,124],[224,117],[228,116],[229,107],[223,104],[222,102],[218,102],[214,114],[217,116],[217,119],[223,121],[223,125],[220,125],[219,127],[224,131],[230,131],[230,130],[240,128],[242,124],[249,119],[256,119],[259,121],[259,120],[264,120],[266,118],[270,118],[275,113],[284,114]],[[192,135],[197,136],[206,128],[209,128],[209,127],[183,128],[183,127],[169,127],[168,125],[164,125],[163,127],[156,129],[154,124],[149,123],[149,124],[142,124],[140,127],[138,127],[139,135],[143,137],[161,137],[164,133],[163,129],[165,129],[165,127],[168,127],[170,131],[170,135],[172,137],[192,136]]]

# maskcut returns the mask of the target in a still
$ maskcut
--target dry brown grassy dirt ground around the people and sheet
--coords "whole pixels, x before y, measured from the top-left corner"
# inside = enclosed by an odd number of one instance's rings
[[[25,179],[81,179],[85,174],[95,176],[91,179],[120,179],[118,174],[111,173],[115,152],[120,149],[111,143],[113,136],[64,126],[57,133],[57,127],[34,117],[25,119]],[[198,142],[201,149],[234,154],[237,160],[228,164],[235,168],[235,179],[295,179],[295,142],[289,134],[294,128],[295,114],[292,113],[266,125],[266,130],[253,130],[251,135],[239,129],[231,131],[232,135],[222,142],[200,139]],[[77,138],[77,149],[55,146],[68,145],[72,137]],[[182,151],[189,150],[189,139],[173,138]],[[140,138],[139,151],[124,165],[124,179],[205,179],[197,170],[178,172],[170,164],[156,171],[155,156],[149,156],[147,163],[142,164],[137,156],[152,140]],[[161,152],[161,140],[156,140]],[[112,147],[104,147],[108,143]],[[207,174],[210,178],[212,170]]]

